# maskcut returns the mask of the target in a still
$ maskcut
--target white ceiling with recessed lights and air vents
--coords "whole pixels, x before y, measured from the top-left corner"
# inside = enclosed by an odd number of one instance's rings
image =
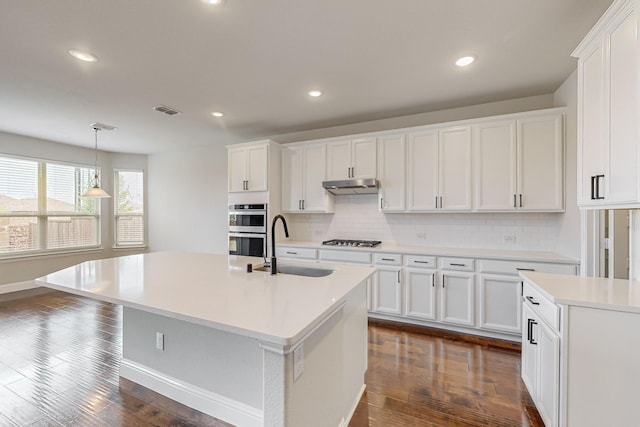
[[[153,153],[548,94],[610,3],[0,0],[0,130]]]

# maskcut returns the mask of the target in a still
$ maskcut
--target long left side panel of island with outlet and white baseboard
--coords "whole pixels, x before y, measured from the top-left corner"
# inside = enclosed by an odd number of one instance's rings
[[[262,425],[257,340],[128,307],[122,335],[122,377],[233,424]]]

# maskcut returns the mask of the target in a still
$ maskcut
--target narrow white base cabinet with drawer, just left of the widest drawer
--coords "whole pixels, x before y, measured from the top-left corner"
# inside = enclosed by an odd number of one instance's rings
[[[474,326],[474,262],[463,258],[443,258],[440,262],[442,289],[440,321],[453,325]]]

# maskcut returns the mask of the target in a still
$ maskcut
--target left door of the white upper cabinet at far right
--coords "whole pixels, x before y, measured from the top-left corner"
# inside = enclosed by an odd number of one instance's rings
[[[605,133],[604,50],[598,41],[578,61],[578,204],[593,200],[592,179],[605,174],[608,136]]]

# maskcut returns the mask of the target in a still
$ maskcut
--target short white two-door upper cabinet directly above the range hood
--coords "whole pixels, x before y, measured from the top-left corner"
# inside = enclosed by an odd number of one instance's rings
[[[376,138],[327,143],[327,181],[376,178]]]

